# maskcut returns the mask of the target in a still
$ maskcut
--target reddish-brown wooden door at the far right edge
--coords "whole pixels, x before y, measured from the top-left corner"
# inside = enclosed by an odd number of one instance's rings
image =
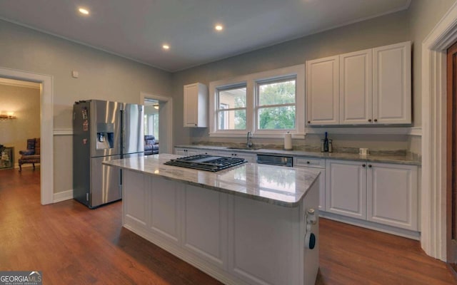
[[[456,211],[456,187],[457,187],[457,151],[456,151],[456,95],[457,95],[457,43],[448,48],[447,59],[447,141],[446,141],[446,187],[447,187],[447,262],[454,276],[457,276],[457,211]]]

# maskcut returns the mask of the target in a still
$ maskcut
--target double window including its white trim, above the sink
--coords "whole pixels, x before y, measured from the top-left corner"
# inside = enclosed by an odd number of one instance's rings
[[[305,66],[291,66],[213,81],[210,136],[278,138],[286,132],[304,138]]]

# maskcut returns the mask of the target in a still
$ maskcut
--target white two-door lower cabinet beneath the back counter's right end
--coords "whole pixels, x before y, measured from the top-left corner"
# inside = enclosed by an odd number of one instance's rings
[[[327,160],[326,212],[418,230],[417,166]]]

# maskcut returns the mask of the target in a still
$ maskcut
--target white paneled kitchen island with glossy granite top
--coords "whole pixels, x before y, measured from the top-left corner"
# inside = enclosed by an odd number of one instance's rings
[[[123,170],[124,227],[224,284],[315,283],[319,172],[164,165],[176,157],[104,162]]]

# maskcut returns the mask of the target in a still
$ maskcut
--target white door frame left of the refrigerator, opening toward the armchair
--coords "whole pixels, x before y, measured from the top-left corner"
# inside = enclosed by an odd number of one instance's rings
[[[53,77],[29,71],[19,71],[0,67],[0,77],[21,81],[41,83],[40,88],[40,137],[41,156],[40,167],[41,204],[54,202],[54,114],[53,114]],[[18,118],[20,120],[21,118]]]

